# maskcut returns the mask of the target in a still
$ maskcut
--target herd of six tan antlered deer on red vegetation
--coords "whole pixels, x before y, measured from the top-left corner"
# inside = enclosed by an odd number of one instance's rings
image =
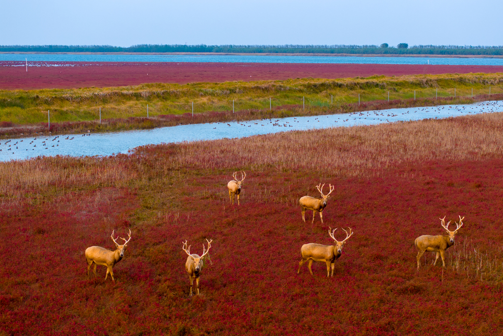
[[[244,178],[246,177],[246,173],[243,171],[241,173],[241,180],[237,179],[237,172],[232,174],[232,177],[234,178],[233,180],[229,181],[227,183],[227,188],[229,189],[229,198],[230,198],[230,203],[233,205],[234,204],[234,198],[235,195],[237,195],[237,205],[239,205],[239,194],[241,192],[241,187],[242,187],[242,182]],[[328,197],[330,193],[333,191],[334,186],[331,184],[328,184],[328,187],[330,191],[325,195],[323,194],[323,185],[318,184],[316,188],[318,189],[319,193],[321,194],[321,197],[311,197],[311,196],[303,196],[300,197],[299,199],[299,204],[300,208],[302,211],[302,220],[304,223],[306,222],[304,218],[304,214],[306,210],[312,210],[313,212],[313,219],[311,223],[314,223],[314,217],[316,215],[316,212],[319,212],[319,217],[321,220],[321,223],[323,223],[323,216],[322,212],[323,209],[326,207],[326,202],[328,200]],[[425,252],[437,252],[437,256],[435,258],[435,262],[433,265],[437,264],[437,260],[439,256],[442,257],[442,266],[445,267],[445,259],[444,259],[444,253],[445,250],[454,245],[454,236],[458,232],[458,230],[463,226],[463,218],[459,216],[459,223],[456,223],[456,230],[450,231],[449,230],[449,224],[451,221],[445,224],[445,216],[444,218],[440,218],[442,221],[441,225],[442,227],[447,231],[448,235],[447,236],[442,236],[442,235],[437,235],[437,236],[430,236],[430,235],[423,235],[420,237],[417,237],[414,241],[414,245],[417,248],[417,256],[416,256],[416,261],[417,261],[417,270],[420,269],[421,267],[421,257]],[[326,263],[326,276],[327,277],[333,277],[333,268],[335,266],[335,261],[341,256],[342,254],[342,249],[346,241],[354,234],[351,228],[349,228],[349,232],[344,230],[346,232],[346,238],[343,241],[338,241],[333,234],[336,232],[336,229],[331,229],[330,227],[328,228],[328,235],[330,238],[332,238],[335,242],[335,245],[322,245],[322,244],[315,244],[315,243],[309,243],[309,244],[304,244],[300,248],[300,254],[302,259],[299,262],[299,268],[297,269],[297,274],[300,272],[300,267],[306,262],[309,261],[307,264],[307,267],[309,268],[309,273],[313,275],[312,270],[311,270],[311,265],[313,261],[318,261],[318,262],[325,262]],[[115,231],[115,230],[114,230]],[[100,247],[100,246],[91,246],[86,249],[86,260],[88,262],[88,279],[89,279],[89,271],[91,270],[91,266],[94,264],[94,269],[93,273],[96,276],[96,266],[97,265],[103,265],[107,266],[107,275],[105,276],[105,280],[107,280],[108,274],[110,273],[110,276],[112,277],[112,281],[115,282],[114,279],[114,273],[112,272],[112,267],[121,261],[122,257],[124,256],[124,249],[126,248],[126,244],[131,240],[131,230],[129,230],[129,239],[126,240],[124,238],[121,238],[124,240],[123,245],[119,245],[117,243],[116,239],[114,239],[114,231],[112,231],[111,238],[117,247],[115,251],[111,251],[109,249]],[[203,259],[205,256],[208,256],[208,252],[210,251],[211,248],[211,242],[213,239],[206,239],[208,242],[208,248],[206,248],[203,244],[203,254],[199,256],[199,254],[191,253],[190,248],[192,245],[189,245],[187,247],[187,240],[183,243],[182,249],[187,253],[187,261],[185,262],[185,270],[189,274],[189,280],[190,280],[190,293],[189,296],[192,296],[192,287],[194,284],[194,280],[196,280],[196,291],[197,295],[199,295],[199,278],[201,276],[201,272],[203,270]],[[331,270],[331,273],[330,273]]]

